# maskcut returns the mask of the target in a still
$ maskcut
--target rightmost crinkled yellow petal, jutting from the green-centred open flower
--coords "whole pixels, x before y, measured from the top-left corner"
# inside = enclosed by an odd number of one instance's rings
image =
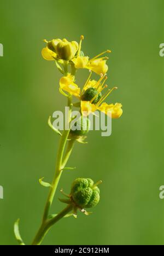
[[[109,116],[112,115],[112,118],[119,118],[122,115],[121,103],[107,104],[104,102],[100,107],[98,107],[98,109]]]

